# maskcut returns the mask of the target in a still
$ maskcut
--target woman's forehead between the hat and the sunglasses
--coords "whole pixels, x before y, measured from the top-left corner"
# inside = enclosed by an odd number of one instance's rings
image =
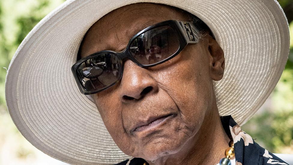
[[[118,8],[94,23],[80,45],[81,57],[101,50],[123,50],[140,30],[165,20],[187,21],[178,8],[154,3],[136,3]]]

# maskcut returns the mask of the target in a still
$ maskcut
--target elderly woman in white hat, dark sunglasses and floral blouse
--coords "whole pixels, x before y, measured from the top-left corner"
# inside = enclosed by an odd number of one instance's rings
[[[239,126],[288,57],[277,2],[137,2],[68,1],[29,33],[6,81],[23,136],[72,164],[287,164]]]

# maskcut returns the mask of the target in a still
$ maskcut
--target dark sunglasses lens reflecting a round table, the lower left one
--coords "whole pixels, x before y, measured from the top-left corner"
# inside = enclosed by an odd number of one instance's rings
[[[105,89],[119,79],[119,59],[107,53],[92,57],[78,67],[79,80],[89,92]]]

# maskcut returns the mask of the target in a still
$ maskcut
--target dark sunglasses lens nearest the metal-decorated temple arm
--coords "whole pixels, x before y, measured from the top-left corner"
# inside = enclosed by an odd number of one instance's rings
[[[159,63],[179,49],[180,42],[171,26],[150,29],[135,38],[129,47],[131,55],[143,65]]]

